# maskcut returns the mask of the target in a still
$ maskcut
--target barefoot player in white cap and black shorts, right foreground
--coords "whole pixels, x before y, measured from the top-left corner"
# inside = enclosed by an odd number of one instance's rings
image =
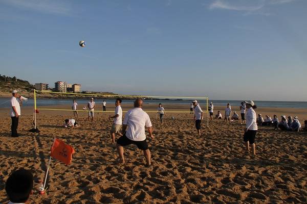
[[[256,112],[254,111],[254,109],[256,109],[257,106],[255,106],[254,101],[252,100],[244,101],[244,103],[246,104],[247,111],[245,117],[246,128],[244,131],[243,141],[245,143],[246,150],[249,152],[249,146],[251,145],[253,148],[253,154],[256,155],[255,137],[258,130],[258,126],[256,123]]]

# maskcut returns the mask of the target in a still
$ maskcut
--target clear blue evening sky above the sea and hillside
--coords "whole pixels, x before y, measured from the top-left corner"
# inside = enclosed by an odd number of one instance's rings
[[[0,74],[118,94],[307,101],[306,9],[305,0],[0,0]]]

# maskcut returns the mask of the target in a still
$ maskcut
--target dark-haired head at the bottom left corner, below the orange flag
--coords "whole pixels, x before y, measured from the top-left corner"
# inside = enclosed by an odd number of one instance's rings
[[[5,184],[11,202],[26,202],[33,189],[33,174],[26,169],[14,171]]]

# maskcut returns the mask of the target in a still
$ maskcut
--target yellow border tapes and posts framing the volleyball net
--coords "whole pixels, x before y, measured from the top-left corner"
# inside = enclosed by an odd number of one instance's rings
[[[50,108],[37,108],[36,105],[36,92],[40,93],[55,93],[55,94],[72,94],[72,95],[89,95],[89,96],[104,96],[104,97],[133,97],[133,98],[189,98],[189,99],[206,99],[206,111],[207,113],[207,127],[209,127],[209,111],[208,111],[208,96],[206,97],[186,97],[186,96],[144,96],[144,95],[111,95],[111,94],[90,94],[90,93],[67,93],[67,92],[52,92],[52,91],[40,91],[34,89],[34,126],[36,129],[36,111],[37,110],[49,110],[49,111],[79,111],[79,112],[92,112],[90,110],[70,110],[70,109],[50,109]],[[93,112],[114,112],[114,111],[93,111]],[[123,111],[127,112],[127,111]],[[190,113],[191,111],[167,111],[167,113]],[[157,111],[146,111],[146,113],[157,113]]]

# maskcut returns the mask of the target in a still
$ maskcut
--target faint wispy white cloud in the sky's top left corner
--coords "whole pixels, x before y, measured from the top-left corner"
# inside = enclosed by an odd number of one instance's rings
[[[67,4],[51,0],[2,0],[1,2],[13,7],[29,9],[41,13],[68,15],[71,10]]]

